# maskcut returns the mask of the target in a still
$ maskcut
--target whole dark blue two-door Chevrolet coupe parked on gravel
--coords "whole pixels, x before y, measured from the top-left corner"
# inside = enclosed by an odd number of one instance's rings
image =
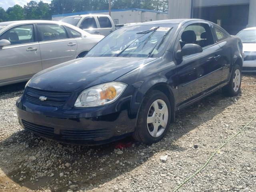
[[[176,111],[220,88],[237,95],[242,64],[241,39],[214,23],[145,22],[33,76],[16,109],[23,128],[53,140],[102,144],[132,135],[151,144]]]

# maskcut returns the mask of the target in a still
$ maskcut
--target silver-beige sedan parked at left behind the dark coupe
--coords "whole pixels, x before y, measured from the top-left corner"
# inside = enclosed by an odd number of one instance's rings
[[[27,81],[41,70],[83,57],[102,38],[63,22],[0,22],[0,86]]]

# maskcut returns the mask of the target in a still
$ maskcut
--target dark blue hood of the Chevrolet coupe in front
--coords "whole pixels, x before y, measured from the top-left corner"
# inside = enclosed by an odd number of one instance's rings
[[[111,82],[156,58],[88,57],[58,64],[34,75],[28,86],[41,90],[78,92]]]

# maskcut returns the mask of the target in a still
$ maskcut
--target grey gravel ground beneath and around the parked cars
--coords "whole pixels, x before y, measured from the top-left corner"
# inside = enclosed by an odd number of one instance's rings
[[[219,91],[178,112],[166,137],[156,144],[134,142],[123,150],[114,149],[117,142],[72,146],[20,127],[15,101],[23,88],[0,88],[1,192],[172,192],[256,115],[256,75],[248,74],[237,97]],[[256,120],[178,191],[256,192],[255,128]],[[167,159],[161,160],[163,156]]]

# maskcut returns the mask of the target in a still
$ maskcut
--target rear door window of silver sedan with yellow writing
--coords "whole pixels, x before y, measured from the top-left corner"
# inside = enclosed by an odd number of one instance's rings
[[[67,39],[68,34],[63,26],[56,24],[37,24],[42,41]]]

